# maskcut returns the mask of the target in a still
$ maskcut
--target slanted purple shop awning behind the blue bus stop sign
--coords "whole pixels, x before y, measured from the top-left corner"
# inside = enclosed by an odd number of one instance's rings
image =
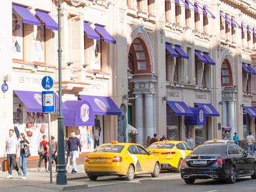
[[[27,107],[27,112],[43,112],[42,107],[42,95],[37,91],[18,91],[14,90],[14,93],[20,98],[20,101]],[[59,112],[59,96],[56,94],[56,111]],[[62,103],[63,112],[68,108]]]

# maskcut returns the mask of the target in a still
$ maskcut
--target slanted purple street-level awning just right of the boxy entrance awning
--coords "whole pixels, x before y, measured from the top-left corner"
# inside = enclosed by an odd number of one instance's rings
[[[116,106],[114,101],[109,97],[88,96],[80,94],[79,98],[88,101],[92,106],[95,115],[121,115],[121,110]]]

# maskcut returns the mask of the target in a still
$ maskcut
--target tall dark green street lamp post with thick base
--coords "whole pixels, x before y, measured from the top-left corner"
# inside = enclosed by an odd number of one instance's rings
[[[58,0],[58,64],[59,64],[59,114],[58,114],[58,162],[57,185],[67,184],[65,149],[64,149],[64,116],[62,114],[62,67],[61,67],[61,0]]]

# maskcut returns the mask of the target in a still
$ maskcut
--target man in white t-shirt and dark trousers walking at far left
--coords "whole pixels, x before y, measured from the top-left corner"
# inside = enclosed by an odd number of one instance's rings
[[[19,154],[19,141],[17,140],[14,130],[9,129],[9,137],[6,139],[6,148],[4,150],[4,156],[7,156],[8,173],[7,179],[12,178],[12,167],[17,171],[19,177],[21,177],[21,171],[16,162],[16,157]]]

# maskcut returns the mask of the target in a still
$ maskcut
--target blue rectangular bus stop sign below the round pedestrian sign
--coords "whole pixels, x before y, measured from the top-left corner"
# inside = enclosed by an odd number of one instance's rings
[[[54,91],[42,91],[43,112],[55,112]]]

